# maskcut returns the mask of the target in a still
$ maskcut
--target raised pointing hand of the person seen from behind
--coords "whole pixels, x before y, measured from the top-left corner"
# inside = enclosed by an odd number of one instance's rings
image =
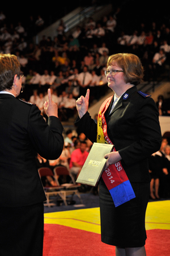
[[[45,101],[44,103],[44,110],[48,117],[58,117],[58,106],[54,101],[52,101],[52,94],[50,89],[48,89],[48,101]]]

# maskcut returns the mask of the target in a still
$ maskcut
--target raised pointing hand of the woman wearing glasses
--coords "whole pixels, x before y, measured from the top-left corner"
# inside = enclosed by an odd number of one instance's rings
[[[88,101],[90,96],[90,90],[87,89],[86,96],[80,96],[78,100],[76,100],[76,109],[79,114],[79,118],[82,118],[84,114],[86,114],[88,110]]]

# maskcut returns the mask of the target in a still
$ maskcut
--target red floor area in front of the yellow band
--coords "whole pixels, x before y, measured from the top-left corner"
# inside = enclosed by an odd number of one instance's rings
[[[170,230],[147,230],[147,256],[169,256]],[[101,242],[100,234],[58,224],[44,225],[43,256],[115,256],[114,246]]]

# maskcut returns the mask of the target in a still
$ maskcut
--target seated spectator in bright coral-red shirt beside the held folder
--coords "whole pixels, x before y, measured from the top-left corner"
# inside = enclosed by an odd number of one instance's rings
[[[80,171],[82,170],[83,164],[85,163],[88,152],[86,151],[87,143],[82,141],[80,143],[80,148],[77,148],[71,153],[70,158],[70,172],[76,178],[78,177]]]

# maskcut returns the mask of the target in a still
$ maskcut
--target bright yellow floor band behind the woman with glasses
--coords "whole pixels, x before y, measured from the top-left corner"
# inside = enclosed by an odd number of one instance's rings
[[[100,209],[67,210],[44,214],[45,224],[59,224],[100,234]],[[149,202],[146,230],[170,229],[170,201]]]

